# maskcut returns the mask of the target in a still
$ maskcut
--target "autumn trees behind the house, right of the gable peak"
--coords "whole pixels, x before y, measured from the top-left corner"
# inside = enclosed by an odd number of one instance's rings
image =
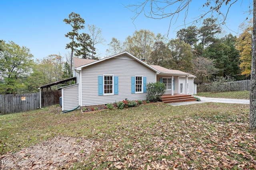
[[[180,29],[176,39],[169,41],[149,30],[135,31],[123,43],[113,37],[106,52],[114,55],[128,51],[148,64],[194,74],[200,84],[217,76],[244,80],[251,72],[252,21],[241,28],[239,37],[223,35],[216,19],[206,18],[201,27]]]

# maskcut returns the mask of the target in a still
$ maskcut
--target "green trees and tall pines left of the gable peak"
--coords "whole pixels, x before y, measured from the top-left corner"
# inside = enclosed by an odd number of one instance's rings
[[[72,40],[66,45],[66,49],[71,49],[66,59],[54,54],[33,60],[27,47],[20,47],[13,41],[0,41],[0,94],[38,92],[38,88],[44,84],[72,77],[73,53],[84,59],[98,59],[95,45],[105,41],[102,30],[95,25],[87,25],[89,33],[79,34],[78,31],[85,28],[85,21],[74,12],[63,21],[72,26],[72,31],[65,35]],[[52,89],[66,85],[60,84]]]

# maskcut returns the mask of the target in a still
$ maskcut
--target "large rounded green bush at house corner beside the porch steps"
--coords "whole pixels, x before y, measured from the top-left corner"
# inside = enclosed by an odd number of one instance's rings
[[[165,84],[161,82],[154,82],[147,84],[147,100],[150,102],[157,102],[165,93]]]

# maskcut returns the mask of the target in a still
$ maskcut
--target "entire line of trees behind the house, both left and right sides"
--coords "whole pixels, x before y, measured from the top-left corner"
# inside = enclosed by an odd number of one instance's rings
[[[69,78],[72,76],[72,53],[79,58],[98,59],[95,45],[104,42],[101,29],[87,25],[91,35],[79,34],[78,31],[84,28],[84,20],[75,13],[64,22],[72,26],[72,31],[65,35],[72,40],[66,45],[71,49],[66,61],[60,54],[34,61],[28,48],[12,41],[0,41],[0,94],[37,92],[43,84]],[[135,31],[124,42],[113,37],[106,53],[114,55],[128,51],[139,59],[146,59],[148,64],[194,74],[198,83],[211,81],[216,76],[244,80],[250,78],[252,21],[242,25],[242,30],[239,37],[221,36],[222,29],[216,20],[207,18],[199,28],[189,26],[177,31],[176,39],[168,40],[149,30]]]

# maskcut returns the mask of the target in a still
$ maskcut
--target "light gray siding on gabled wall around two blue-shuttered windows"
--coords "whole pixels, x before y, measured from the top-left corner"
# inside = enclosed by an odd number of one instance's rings
[[[118,76],[118,95],[98,95],[98,76]],[[131,94],[131,77],[146,76],[156,81],[156,72],[122,55],[82,68],[82,106],[114,103],[121,100],[146,100],[146,93]]]

